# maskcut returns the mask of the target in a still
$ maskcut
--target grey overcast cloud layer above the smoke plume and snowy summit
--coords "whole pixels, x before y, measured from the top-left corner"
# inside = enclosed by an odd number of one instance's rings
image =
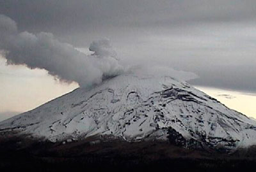
[[[109,38],[124,65],[164,64],[198,75],[194,85],[256,92],[255,0],[0,0],[0,13],[19,32],[74,47]],[[1,65],[6,81],[13,70]]]

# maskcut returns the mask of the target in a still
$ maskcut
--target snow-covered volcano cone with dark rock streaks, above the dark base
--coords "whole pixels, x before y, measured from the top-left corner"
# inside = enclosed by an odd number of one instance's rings
[[[67,138],[170,140],[184,147],[248,147],[256,144],[256,122],[170,76],[124,74],[97,87],[76,89],[0,122],[51,141]]]

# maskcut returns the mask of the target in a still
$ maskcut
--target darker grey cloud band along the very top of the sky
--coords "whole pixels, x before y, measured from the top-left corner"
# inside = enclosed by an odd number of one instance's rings
[[[255,20],[255,6],[253,0],[0,0],[1,13],[17,21],[20,31],[52,32],[70,41],[76,38],[67,34],[108,32],[106,27],[156,29]]]

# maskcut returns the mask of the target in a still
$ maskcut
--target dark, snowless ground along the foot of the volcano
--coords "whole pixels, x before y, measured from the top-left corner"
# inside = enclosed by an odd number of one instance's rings
[[[255,171],[256,149],[227,154],[163,141],[51,143],[0,139],[0,171]]]

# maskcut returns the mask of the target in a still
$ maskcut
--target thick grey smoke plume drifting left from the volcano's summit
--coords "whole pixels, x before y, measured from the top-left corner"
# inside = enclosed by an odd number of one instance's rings
[[[80,87],[90,87],[123,72],[108,39],[93,41],[89,49],[92,55],[58,41],[49,32],[19,32],[15,21],[0,15],[0,50],[7,64],[45,69],[49,75],[77,82]]]

